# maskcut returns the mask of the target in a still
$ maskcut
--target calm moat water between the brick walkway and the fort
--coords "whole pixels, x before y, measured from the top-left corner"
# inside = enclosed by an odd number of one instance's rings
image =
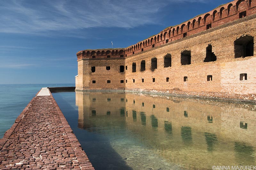
[[[96,170],[256,165],[256,105],[131,93],[53,93]]]

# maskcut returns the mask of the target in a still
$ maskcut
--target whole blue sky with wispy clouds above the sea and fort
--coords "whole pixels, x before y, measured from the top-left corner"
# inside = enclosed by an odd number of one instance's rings
[[[127,47],[227,0],[1,0],[0,84],[75,83],[76,52]]]

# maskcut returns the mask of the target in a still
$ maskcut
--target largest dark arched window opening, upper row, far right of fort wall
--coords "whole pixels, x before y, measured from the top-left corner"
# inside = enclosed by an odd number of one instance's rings
[[[252,36],[246,35],[234,41],[235,58],[253,56],[253,39]]]

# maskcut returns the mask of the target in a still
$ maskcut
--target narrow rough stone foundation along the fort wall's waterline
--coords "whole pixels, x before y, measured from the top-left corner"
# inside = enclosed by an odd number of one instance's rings
[[[76,91],[84,92],[130,92],[130,93],[142,93],[157,96],[172,96],[182,98],[204,98],[214,99],[219,101],[228,102],[247,102],[256,103],[256,94],[233,94],[233,93],[221,93],[221,92],[189,92],[181,91],[179,89],[166,89],[166,90],[155,90],[155,89],[85,89]]]

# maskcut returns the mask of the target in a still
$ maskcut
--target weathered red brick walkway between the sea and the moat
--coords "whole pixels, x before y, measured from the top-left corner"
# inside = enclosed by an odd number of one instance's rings
[[[0,169],[94,168],[51,95],[34,97],[0,139]]]

